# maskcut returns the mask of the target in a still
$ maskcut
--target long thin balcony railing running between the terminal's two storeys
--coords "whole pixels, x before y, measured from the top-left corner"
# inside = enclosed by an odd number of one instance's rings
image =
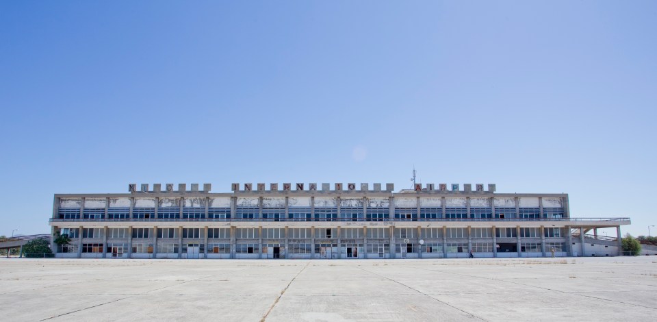
[[[630,218],[382,218],[382,219],[369,219],[369,218],[124,218],[124,219],[50,219],[51,222],[120,222],[120,221],[487,221],[487,222],[505,222],[505,221],[567,221],[567,222],[586,222],[586,221],[630,221]]]

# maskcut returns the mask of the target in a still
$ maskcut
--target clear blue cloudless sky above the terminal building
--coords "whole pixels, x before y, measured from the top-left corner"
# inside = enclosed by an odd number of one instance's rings
[[[656,103],[657,1],[2,1],[0,234],[54,193],[414,165],[645,235]]]

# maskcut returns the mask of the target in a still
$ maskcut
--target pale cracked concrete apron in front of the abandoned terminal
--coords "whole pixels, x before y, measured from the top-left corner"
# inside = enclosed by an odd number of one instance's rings
[[[657,321],[657,256],[0,259],[3,321]]]

